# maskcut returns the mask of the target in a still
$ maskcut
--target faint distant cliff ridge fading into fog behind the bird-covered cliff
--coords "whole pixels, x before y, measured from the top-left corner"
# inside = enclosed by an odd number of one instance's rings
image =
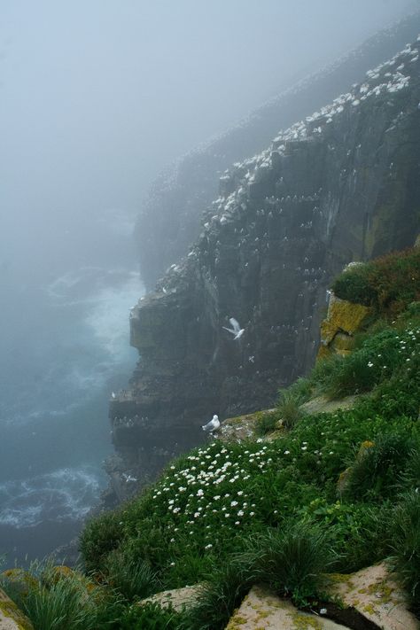
[[[218,193],[223,171],[237,160],[260,152],[276,135],[340,92],[360,82],[369,67],[400,51],[420,31],[420,13],[371,37],[360,48],[322,71],[286,89],[247,120],[159,176],[144,203],[136,241],[145,285],[152,289],[167,267],[178,261],[198,237],[201,214]],[[229,180],[224,191],[229,194]]]

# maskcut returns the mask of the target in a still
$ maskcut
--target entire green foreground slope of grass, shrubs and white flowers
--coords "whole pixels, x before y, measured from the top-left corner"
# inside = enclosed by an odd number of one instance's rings
[[[318,362],[280,393],[259,429],[276,428],[275,439],[216,439],[89,521],[81,537],[89,579],[35,575],[29,593],[14,594],[35,628],[47,627],[44,616],[49,628],[217,630],[255,582],[304,605],[323,592],[325,572],[384,558],[420,613],[419,268],[419,253],[408,251],[340,276],[337,294],[374,305],[381,321],[352,354]],[[301,404],[321,394],[358,395],[352,408],[306,415]],[[197,583],[199,604],[188,612],[136,603]]]

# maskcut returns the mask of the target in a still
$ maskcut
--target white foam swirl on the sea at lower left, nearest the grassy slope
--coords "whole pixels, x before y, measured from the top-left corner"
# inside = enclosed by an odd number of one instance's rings
[[[100,482],[89,466],[62,468],[0,484],[0,525],[18,529],[45,521],[77,521],[97,500]]]

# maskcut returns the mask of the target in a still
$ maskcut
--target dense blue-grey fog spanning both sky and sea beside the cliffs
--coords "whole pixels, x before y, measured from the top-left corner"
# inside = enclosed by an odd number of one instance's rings
[[[105,485],[152,179],[417,6],[2,0],[0,554],[65,542]]]

